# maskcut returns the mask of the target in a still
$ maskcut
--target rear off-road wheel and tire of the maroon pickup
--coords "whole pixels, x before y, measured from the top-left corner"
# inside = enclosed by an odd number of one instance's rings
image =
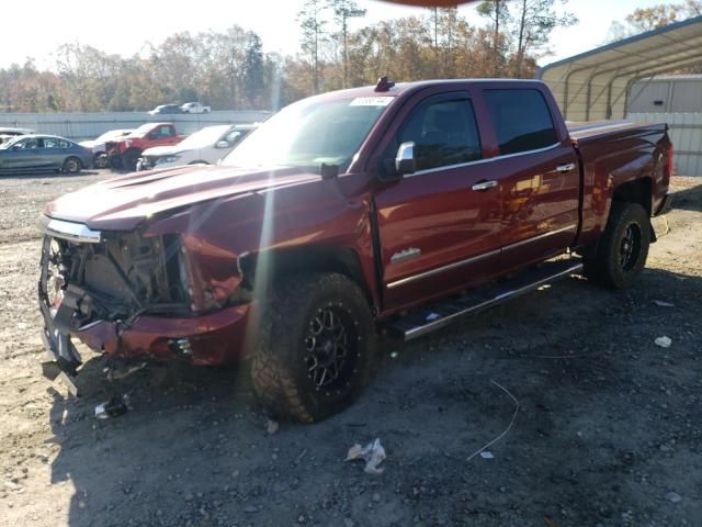
[[[608,288],[626,289],[643,271],[649,245],[650,222],[644,208],[614,201],[597,249],[584,257],[585,273]]]

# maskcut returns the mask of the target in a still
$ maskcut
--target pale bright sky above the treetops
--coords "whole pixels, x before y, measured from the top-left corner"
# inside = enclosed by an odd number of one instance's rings
[[[634,9],[661,1],[570,0],[568,9],[580,23],[555,30],[551,38],[554,54],[542,58],[540,64],[543,66],[599,46],[612,21],[622,21]],[[258,33],[267,52],[294,54],[299,38],[295,16],[302,3],[303,0],[197,0],[186,4],[172,0],[9,2],[3,5],[0,18],[3,42],[0,68],[13,63],[24,64],[26,57],[33,57],[39,68],[48,67],[53,63],[50,54],[68,42],[132,56],[139,53],[146,42],[158,45],[172,33],[223,31],[233,24]],[[358,0],[358,3],[367,10],[367,14],[353,21],[352,29],[381,20],[427,13],[422,8],[382,0]],[[471,24],[484,25],[485,21],[475,12],[475,3],[461,7],[460,12]]]

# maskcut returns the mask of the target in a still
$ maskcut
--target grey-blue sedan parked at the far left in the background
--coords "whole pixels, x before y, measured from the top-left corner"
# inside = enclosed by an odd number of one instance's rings
[[[88,148],[56,135],[20,135],[0,145],[0,173],[78,173],[91,165],[92,153]]]

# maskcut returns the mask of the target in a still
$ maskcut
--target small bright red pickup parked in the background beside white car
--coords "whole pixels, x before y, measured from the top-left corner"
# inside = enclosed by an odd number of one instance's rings
[[[173,123],[146,123],[129,135],[107,142],[107,160],[112,168],[134,170],[147,148],[177,145],[184,138],[184,135],[178,134]]]

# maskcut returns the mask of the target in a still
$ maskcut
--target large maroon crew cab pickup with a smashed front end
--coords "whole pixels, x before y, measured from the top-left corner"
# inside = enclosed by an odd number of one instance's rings
[[[273,415],[322,419],[362,389],[381,334],[570,274],[631,285],[671,159],[667,125],[568,130],[539,81],[383,78],[296,102],[218,166],[46,206],[45,371],[76,373],[71,337],[111,357],[247,357]]]

